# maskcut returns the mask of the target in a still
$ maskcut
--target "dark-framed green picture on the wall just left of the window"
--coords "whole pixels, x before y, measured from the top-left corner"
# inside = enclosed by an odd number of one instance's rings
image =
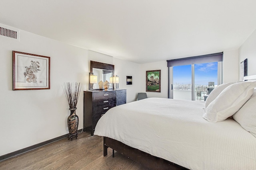
[[[146,92],[161,92],[161,70],[146,71]]]

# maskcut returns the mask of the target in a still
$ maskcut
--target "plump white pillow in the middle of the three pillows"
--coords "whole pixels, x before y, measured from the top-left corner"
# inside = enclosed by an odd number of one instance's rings
[[[252,96],[256,82],[239,82],[226,87],[204,110],[204,119],[224,121],[238,111]]]

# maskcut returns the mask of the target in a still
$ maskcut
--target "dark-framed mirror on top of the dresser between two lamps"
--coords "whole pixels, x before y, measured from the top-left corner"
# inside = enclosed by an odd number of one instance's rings
[[[98,83],[100,82],[100,80],[102,82],[105,82],[106,80],[110,82],[110,77],[114,75],[114,65],[91,61],[90,72],[92,72],[94,76],[97,76],[97,83],[93,84],[93,89],[89,89],[89,90],[102,90],[102,88],[99,88]],[[90,87],[90,77],[89,77],[89,87]],[[114,87],[114,84],[110,83],[109,89],[113,89],[113,87]]]

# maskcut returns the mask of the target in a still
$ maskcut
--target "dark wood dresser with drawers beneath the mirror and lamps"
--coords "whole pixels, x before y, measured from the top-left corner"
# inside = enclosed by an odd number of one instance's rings
[[[121,104],[126,104],[126,90],[84,91],[84,131],[93,135],[100,117]]]

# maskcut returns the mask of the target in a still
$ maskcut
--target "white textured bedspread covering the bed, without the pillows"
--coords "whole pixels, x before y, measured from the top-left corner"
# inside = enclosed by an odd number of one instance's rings
[[[205,120],[204,102],[147,98],[111,108],[94,135],[192,170],[256,170],[256,138],[232,118]]]

